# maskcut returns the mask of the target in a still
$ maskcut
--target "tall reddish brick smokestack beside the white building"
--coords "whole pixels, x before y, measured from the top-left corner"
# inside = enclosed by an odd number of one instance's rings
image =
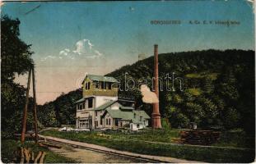
[[[158,85],[158,45],[154,45],[154,90],[159,99],[159,85]],[[151,114],[152,128],[161,128],[161,115],[159,112],[159,103],[153,103],[153,112]]]

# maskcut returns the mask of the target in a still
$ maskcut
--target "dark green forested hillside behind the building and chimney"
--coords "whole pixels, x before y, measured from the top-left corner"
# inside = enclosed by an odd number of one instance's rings
[[[125,74],[126,78],[134,80],[144,78],[151,87],[153,60],[149,57],[108,75],[121,80],[122,89],[125,87]],[[173,73],[184,80],[183,90],[179,89],[179,80],[176,80],[175,91],[167,91],[164,81],[164,89],[160,92],[161,116],[167,118],[172,127],[187,127],[190,122],[196,122],[200,128],[243,128],[254,133],[254,51],[207,50],[160,54],[160,78],[165,80],[166,74],[171,76]],[[138,88],[126,93],[133,94],[136,106],[151,115],[151,105],[142,103]],[[72,103],[79,98],[81,91],[77,90],[44,104],[40,107],[40,113],[44,113],[40,121],[44,125],[74,124]]]

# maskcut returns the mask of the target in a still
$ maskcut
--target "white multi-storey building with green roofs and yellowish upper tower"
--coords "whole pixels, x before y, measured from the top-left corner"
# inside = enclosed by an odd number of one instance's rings
[[[83,98],[76,102],[77,128],[116,129],[129,127],[138,130],[148,125],[150,116],[144,111],[123,106],[118,98],[119,82],[113,77],[86,75],[83,81]]]

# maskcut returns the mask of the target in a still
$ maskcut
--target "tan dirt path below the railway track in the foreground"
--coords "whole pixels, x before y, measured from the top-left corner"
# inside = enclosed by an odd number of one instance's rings
[[[59,145],[59,144],[58,144]],[[95,151],[87,150],[84,148],[73,148],[61,144],[62,148],[49,148],[54,153],[58,153],[64,157],[73,159],[76,162],[82,163],[131,163],[131,162],[143,162],[141,160],[120,157],[117,155],[111,155],[106,153],[98,153]]]

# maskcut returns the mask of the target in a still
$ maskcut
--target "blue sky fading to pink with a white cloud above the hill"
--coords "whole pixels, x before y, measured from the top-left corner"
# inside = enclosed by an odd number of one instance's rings
[[[2,2],[1,15],[6,14],[21,21],[20,38],[34,52],[39,104],[78,89],[86,73],[105,75],[137,62],[138,54],[152,56],[156,43],[159,53],[254,50],[254,8],[245,0]],[[16,82],[26,79],[22,75]]]

